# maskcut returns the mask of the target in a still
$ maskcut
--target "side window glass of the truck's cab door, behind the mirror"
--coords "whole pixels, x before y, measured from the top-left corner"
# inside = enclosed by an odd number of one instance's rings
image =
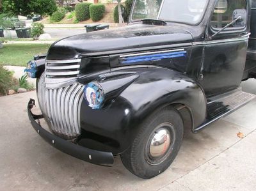
[[[245,0],[219,0],[214,8],[214,13],[211,19],[211,27],[220,29],[225,27],[232,20],[241,16],[242,19],[228,26],[228,29],[243,28],[246,26],[247,12]]]

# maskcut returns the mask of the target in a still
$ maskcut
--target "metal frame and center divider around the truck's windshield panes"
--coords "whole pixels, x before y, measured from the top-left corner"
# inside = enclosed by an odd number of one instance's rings
[[[134,11],[134,6],[136,4],[136,1],[140,1],[140,0],[133,1],[131,14],[129,16],[130,22],[141,22],[141,19],[136,19],[136,20],[132,19],[132,14],[133,14],[133,11]],[[159,17],[160,17],[160,13],[161,13],[161,11],[163,9],[164,1],[166,1],[166,0],[162,1],[161,6],[159,8],[159,13],[157,15],[157,18],[155,18],[156,20],[163,20],[163,19],[159,19]],[[204,20],[204,18],[205,18],[205,13],[207,12],[207,7],[209,6],[209,3],[210,3],[210,0],[207,0],[207,3],[205,4],[204,11],[202,13],[202,17],[201,17],[200,20],[198,20],[198,22],[196,22],[196,24],[191,24],[189,22],[178,22],[178,21],[173,21],[173,20],[163,20],[163,21],[165,21],[165,22],[173,22],[173,23],[178,23],[178,24],[187,24],[189,26],[198,26],[202,22],[202,20]],[[154,19],[154,18],[145,18],[145,19]]]

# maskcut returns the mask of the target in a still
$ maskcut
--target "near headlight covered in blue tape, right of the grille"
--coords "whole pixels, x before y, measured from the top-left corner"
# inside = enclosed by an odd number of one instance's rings
[[[84,99],[92,109],[102,108],[104,97],[104,91],[97,82],[90,82],[84,87]]]

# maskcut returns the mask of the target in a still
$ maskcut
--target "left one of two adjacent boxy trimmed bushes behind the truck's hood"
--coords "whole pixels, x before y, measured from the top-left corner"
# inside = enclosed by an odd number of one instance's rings
[[[79,21],[90,19],[90,5],[92,3],[78,3],[76,4],[76,19]]]

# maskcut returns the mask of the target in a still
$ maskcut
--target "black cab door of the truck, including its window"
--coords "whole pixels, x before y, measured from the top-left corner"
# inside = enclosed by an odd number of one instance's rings
[[[240,20],[230,24],[241,16]],[[248,4],[246,0],[219,0],[209,21],[204,42],[201,84],[207,96],[236,89],[241,83],[248,46]],[[221,28],[230,24],[218,33]],[[217,33],[216,35],[214,35]],[[213,35],[213,36],[212,36]]]

